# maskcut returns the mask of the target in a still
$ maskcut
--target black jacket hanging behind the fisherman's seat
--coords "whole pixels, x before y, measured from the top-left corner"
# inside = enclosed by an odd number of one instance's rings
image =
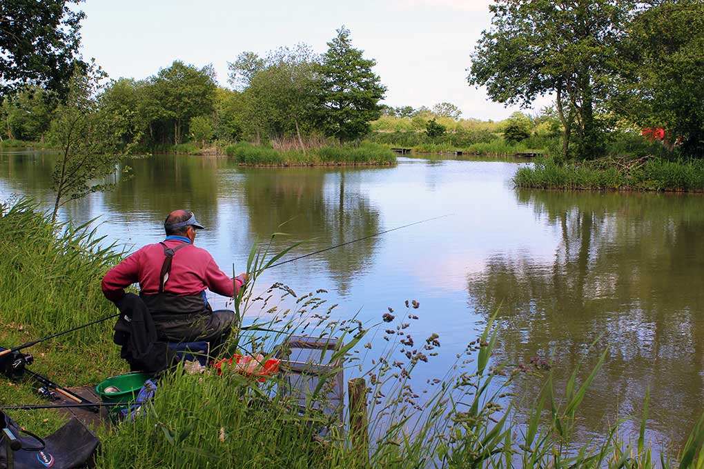
[[[169,368],[175,352],[157,338],[149,309],[138,295],[127,293],[115,302],[120,318],[115,323],[113,342],[122,346],[120,356],[130,364],[131,371],[160,373]]]

